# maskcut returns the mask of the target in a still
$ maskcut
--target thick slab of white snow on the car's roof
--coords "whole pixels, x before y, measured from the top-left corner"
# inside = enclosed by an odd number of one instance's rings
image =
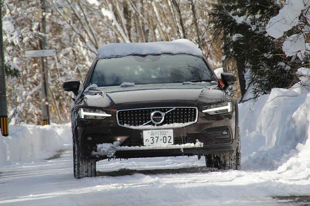
[[[202,51],[190,40],[178,39],[148,43],[110,43],[98,48],[98,58],[124,57],[148,54],[192,54],[202,57]]]

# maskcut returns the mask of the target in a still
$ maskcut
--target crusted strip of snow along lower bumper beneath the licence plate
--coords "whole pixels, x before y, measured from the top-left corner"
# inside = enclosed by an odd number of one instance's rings
[[[116,151],[122,150],[145,150],[145,149],[181,149],[183,152],[184,148],[195,148],[203,147],[203,143],[196,140],[196,143],[186,143],[181,145],[167,145],[167,144],[157,144],[148,146],[120,146],[119,141],[112,143],[103,143],[97,145],[97,151],[93,151],[92,155],[107,155],[107,157],[112,158]]]

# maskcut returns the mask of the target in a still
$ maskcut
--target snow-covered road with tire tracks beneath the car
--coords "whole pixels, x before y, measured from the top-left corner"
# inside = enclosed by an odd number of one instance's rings
[[[73,178],[72,165],[68,145],[51,159],[2,166],[0,205],[300,205],[273,197],[310,191],[305,177],[210,172],[197,157],[100,161],[98,176],[84,179]]]

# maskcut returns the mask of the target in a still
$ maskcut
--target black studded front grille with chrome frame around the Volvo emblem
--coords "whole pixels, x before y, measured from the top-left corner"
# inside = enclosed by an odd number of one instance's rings
[[[171,110],[173,109],[173,110]],[[171,111],[170,111],[171,110]],[[161,111],[166,113],[161,124],[154,124],[151,121],[151,113]],[[169,111],[169,112],[168,112]],[[190,123],[197,121],[196,107],[155,107],[126,109],[117,111],[117,123],[120,126],[161,126],[164,124]]]

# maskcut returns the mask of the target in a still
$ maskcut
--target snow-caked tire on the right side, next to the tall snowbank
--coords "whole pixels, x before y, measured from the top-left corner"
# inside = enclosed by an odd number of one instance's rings
[[[240,146],[240,130],[238,128],[237,147],[233,153],[224,154],[207,154],[206,166],[218,168],[219,170],[240,170],[241,167],[241,146]]]

